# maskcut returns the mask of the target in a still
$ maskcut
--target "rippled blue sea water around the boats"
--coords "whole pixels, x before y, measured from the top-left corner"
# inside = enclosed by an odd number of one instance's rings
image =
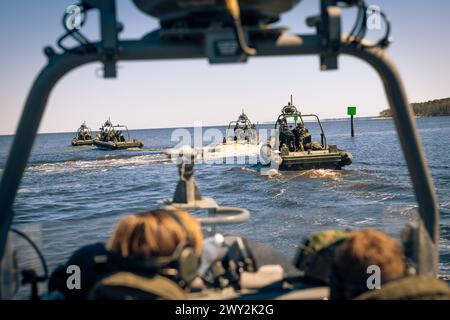
[[[449,276],[450,118],[421,118],[417,123],[442,212],[440,273]],[[252,214],[247,223],[221,231],[289,255],[303,237],[327,228],[371,227],[399,237],[403,226],[415,219],[417,205],[393,122],[356,120],[353,139],[347,121],[323,125],[328,143],[353,154],[350,167],[268,177],[250,165],[197,165],[203,195]],[[317,137],[317,128],[310,130]],[[141,151],[75,148],[69,145],[72,133],[39,135],[14,206],[15,226],[38,240],[51,269],[80,246],[107,240],[122,215],[153,208],[173,195],[177,168],[161,153],[175,146],[172,132],[132,131],[145,143]],[[11,136],[0,136],[0,175],[11,142]],[[24,250],[22,260],[38,266],[35,255]]]

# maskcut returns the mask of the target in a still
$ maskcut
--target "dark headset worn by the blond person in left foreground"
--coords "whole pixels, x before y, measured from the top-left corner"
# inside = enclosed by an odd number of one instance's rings
[[[146,259],[124,258],[116,253],[109,252],[106,263],[109,267],[119,270],[144,274],[160,274],[177,282],[181,287],[189,285],[198,274],[200,256],[195,252],[194,241],[189,231],[175,212],[169,210],[151,211],[156,215],[168,215],[175,220],[183,230],[186,240],[181,241],[170,256],[150,257]]]

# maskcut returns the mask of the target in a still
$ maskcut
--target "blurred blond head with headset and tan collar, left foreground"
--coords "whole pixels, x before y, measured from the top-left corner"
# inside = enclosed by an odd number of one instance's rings
[[[91,299],[186,299],[197,277],[200,225],[185,211],[155,210],[122,218],[108,243],[114,270]]]

